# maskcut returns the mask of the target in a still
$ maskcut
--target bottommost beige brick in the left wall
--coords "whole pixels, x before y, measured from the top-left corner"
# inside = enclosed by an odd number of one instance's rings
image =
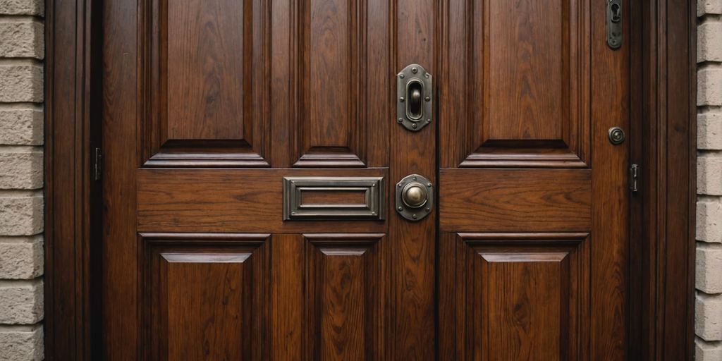
[[[36,361],[44,357],[43,325],[0,326],[0,360]]]

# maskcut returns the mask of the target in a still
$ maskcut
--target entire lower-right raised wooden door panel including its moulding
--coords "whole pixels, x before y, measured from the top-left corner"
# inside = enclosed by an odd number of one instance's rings
[[[440,360],[587,360],[588,233],[440,242]]]

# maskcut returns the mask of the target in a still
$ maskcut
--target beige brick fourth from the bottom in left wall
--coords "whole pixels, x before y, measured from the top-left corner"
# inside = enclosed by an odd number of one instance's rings
[[[0,235],[37,235],[43,232],[43,193],[0,193]]]

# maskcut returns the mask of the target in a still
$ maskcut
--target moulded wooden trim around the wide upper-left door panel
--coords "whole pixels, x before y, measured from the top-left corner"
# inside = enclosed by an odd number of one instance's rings
[[[243,139],[168,139],[168,0],[139,5],[139,122],[148,168],[265,168],[270,154],[269,0],[244,1]],[[247,63],[249,63],[246,65]],[[173,74],[170,74],[173,76]]]

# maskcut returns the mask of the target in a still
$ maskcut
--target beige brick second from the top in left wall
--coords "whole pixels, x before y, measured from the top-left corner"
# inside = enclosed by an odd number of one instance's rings
[[[0,21],[0,57],[42,59],[45,55],[43,39],[43,23],[38,20],[10,18]]]

